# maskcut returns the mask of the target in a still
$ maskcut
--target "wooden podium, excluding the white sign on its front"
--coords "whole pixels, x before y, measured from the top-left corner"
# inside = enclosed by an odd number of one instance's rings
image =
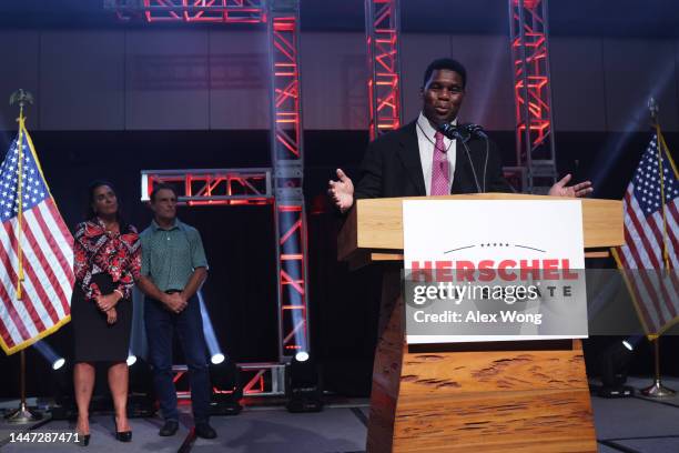
[[[505,193],[430,199],[558,200]],[[596,452],[579,340],[406,344],[403,200],[357,200],[338,238],[338,259],[351,266],[386,264],[367,452]],[[622,244],[621,202],[581,201],[586,256]]]

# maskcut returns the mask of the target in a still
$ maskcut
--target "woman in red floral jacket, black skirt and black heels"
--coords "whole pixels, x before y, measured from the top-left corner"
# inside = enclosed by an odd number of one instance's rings
[[[118,198],[110,183],[98,181],[90,185],[88,220],[77,226],[74,238],[75,286],[71,321],[77,430],[87,445],[94,364],[107,362],[115,406],[115,437],[130,442],[126,359],[132,326],[131,292],[139,278],[141,246],[136,229],[120,215]]]

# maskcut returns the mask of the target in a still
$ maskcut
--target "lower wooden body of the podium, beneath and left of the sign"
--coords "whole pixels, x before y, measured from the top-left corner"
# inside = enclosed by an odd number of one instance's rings
[[[408,349],[399,284],[399,269],[386,270],[368,452],[597,451],[579,341]]]

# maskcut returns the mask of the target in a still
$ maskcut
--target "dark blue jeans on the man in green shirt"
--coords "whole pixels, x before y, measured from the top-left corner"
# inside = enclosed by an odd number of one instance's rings
[[[179,314],[165,310],[162,302],[145,298],[144,321],[149,340],[149,360],[153,366],[153,383],[163,417],[179,421],[176,390],[172,381],[172,335],[176,332],[189,368],[193,420],[196,424],[206,423],[210,417],[212,387],[197,296],[189,299],[186,308]]]

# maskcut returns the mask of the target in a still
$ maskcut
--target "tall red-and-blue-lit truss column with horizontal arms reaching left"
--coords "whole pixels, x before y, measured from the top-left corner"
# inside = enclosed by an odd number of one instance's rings
[[[302,182],[304,154],[300,95],[298,0],[179,1],[105,0],[121,18],[142,11],[148,21],[265,21],[271,60],[271,111],[273,119],[272,169],[144,170],[142,200],[154,184],[171,183],[188,205],[274,204],[277,254],[278,359],[287,362],[298,351],[310,351],[306,269],[306,215]],[[143,7],[143,8],[142,8]],[[227,9],[231,8],[232,10]],[[256,10],[256,11],[255,11]],[[243,19],[247,12],[256,20]],[[156,16],[160,14],[160,16]],[[214,13],[214,14],[213,14]],[[221,14],[221,16],[217,16]],[[259,16],[257,16],[259,14]],[[180,365],[181,366],[181,365]],[[241,364],[254,374],[245,385],[259,395],[283,394],[284,366]],[[181,370],[179,371],[181,372]],[[178,373],[179,373],[178,372]],[[270,373],[270,379],[266,375]],[[271,387],[266,387],[271,383]]]

